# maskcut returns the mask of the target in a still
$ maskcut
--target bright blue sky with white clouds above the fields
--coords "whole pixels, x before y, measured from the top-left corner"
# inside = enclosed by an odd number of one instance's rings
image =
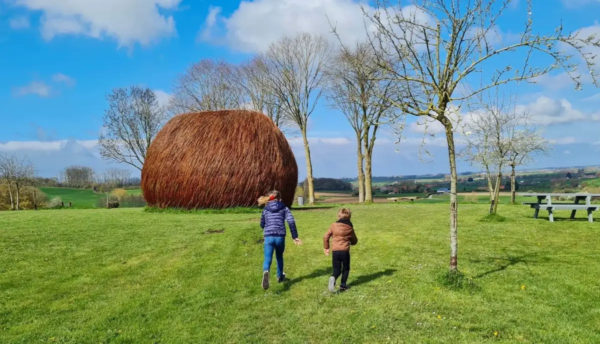
[[[514,1],[497,23],[497,39],[518,39],[526,12],[525,0]],[[566,30],[600,34],[600,0],[533,0],[532,12],[535,31],[552,32],[562,22]],[[147,86],[166,101],[172,80],[195,61],[243,61],[300,31],[332,37],[330,22],[344,41],[365,38],[353,0],[0,0],[0,153],[28,156],[41,176],[68,165],[128,168],[103,160],[97,146],[111,89]],[[532,167],[600,165],[600,89],[580,71],[583,90],[560,71],[508,89],[556,141]],[[394,132],[380,132],[375,176],[449,171],[441,128],[430,126],[436,135],[427,135],[425,148],[433,156],[420,157],[424,135],[416,121],[407,119],[400,143]],[[321,101],[308,129],[314,176],[355,177],[355,135],[345,117]],[[303,176],[304,148],[290,143]],[[476,169],[460,161],[458,170]]]

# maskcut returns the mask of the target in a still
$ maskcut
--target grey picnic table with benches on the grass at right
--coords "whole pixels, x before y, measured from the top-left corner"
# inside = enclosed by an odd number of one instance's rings
[[[554,210],[571,210],[571,219],[575,218],[577,210],[587,210],[587,220],[594,222],[592,212],[600,210],[599,204],[592,204],[592,197],[600,197],[600,194],[519,194],[525,197],[537,197],[537,202],[524,202],[524,205],[531,206],[531,209],[535,209],[533,218],[537,219],[539,210],[548,210],[548,218],[550,222],[554,222]],[[552,203],[552,197],[574,197],[573,203]],[[545,200],[546,203],[542,203]],[[580,201],[585,201],[585,204],[580,204]]]

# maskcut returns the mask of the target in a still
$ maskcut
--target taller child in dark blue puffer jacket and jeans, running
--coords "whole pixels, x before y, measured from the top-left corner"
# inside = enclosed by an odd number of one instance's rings
[[[302,245],[302,240],[298,239],[296,230],[296,221],[292,212],[281,202],[279,191],[271,191],[266,196],[259,198],[259,206],[265,206],[260,219],[260,228],[264,230],[265,236],[265,261],[263,262],[263,289],[269,289],[269,270],[273,261],[273,251],[277,259],[277,282],[281,283],[286,279],[283,272],[283,251],[286,249],[286,221],[292,233],[292,239],[296,245]]]

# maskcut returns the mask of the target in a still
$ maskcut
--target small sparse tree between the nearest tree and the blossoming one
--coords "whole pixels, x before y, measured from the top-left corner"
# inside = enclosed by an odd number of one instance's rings
[[[480,99],[481,108],[470,114],[470,121],[466,124],[464,155],[471,165],[485,168],[490,202],[493,203],[490,213],[496,213],[502,171],[509,164],[518,133],[526,128],[531,116],[516,110],[516,98],[509,97],[507,101],[504,97],[500,98],[497,90],[488,99]],[[492,183],[492,172],[496,176],[495,183]]]

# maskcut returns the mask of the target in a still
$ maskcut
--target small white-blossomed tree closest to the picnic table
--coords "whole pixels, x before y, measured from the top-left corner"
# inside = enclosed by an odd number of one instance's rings
[[[517,166],[526,166],[535,162],[535,155],[548,155],[553,149],[554,141],[544,137],[544,129],[523,128],[515,133],[514,144],[509,155],[508,164],[511,167],[511,203],[515,204]]]

